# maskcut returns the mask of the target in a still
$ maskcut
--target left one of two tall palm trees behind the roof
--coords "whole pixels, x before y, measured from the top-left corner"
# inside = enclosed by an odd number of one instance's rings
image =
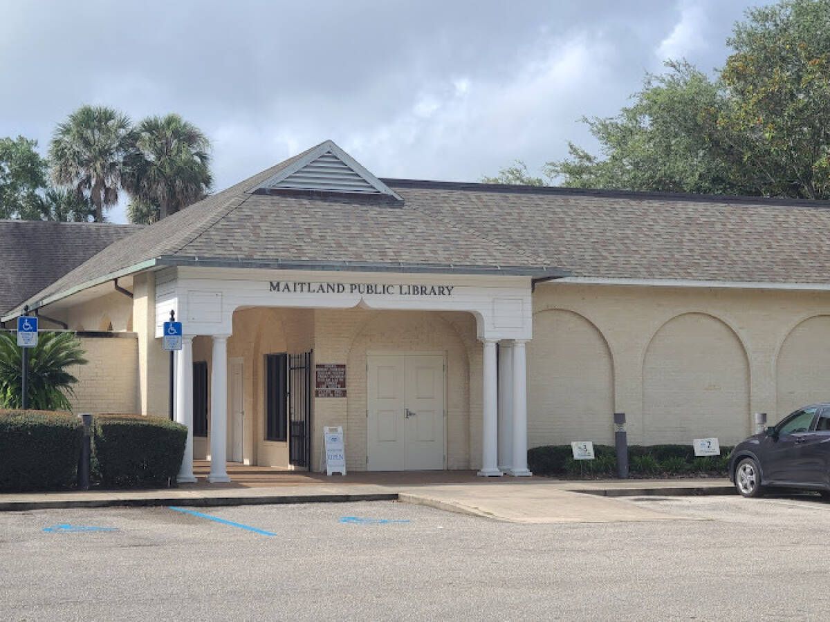
[[[58,124],[49,145],[54,181],[95,206],[95,221],[118,202],[125,156],[133,148],[129,117],[106,106],[81,106]]]

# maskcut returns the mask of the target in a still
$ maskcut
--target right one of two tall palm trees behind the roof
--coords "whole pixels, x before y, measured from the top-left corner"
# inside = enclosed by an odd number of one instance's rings
[[[211,144],[200,129],[168,114],[144,119],[135,134],[136,149],[127,159],[125,175],[134,199],[128,208],[131,221],[164,218],[207,194],[213,182]]]

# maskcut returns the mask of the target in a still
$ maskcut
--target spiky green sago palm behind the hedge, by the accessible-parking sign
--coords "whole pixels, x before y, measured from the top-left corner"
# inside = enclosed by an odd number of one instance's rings
[[[0,406],[22,408],[22,348],[12,333],[0,333]],[[29,348],[27,393],[29,408],[71,411],[69,397],[78,379],[67,371],[86,362],[74,333],[39,333]]]

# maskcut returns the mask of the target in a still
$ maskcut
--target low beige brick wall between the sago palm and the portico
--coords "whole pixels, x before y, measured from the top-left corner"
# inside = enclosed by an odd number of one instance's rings
[[[76,413],[139,412],[138,338],[132,333],[118,337],[81,337],[85,365],[70,372],[78,379],[71,398]]]

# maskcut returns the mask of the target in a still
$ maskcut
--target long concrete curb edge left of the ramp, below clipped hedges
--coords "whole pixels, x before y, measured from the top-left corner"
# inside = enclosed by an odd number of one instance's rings
[[[153,508],[169,505],[218,508],[233,505],[278,505],[283,503],[350,503],[397,501],[398,493],[263,495],[256,497],[154,497],[111,499],[61,499],[55,501],[0,502],[0,512],[66,508]]]

